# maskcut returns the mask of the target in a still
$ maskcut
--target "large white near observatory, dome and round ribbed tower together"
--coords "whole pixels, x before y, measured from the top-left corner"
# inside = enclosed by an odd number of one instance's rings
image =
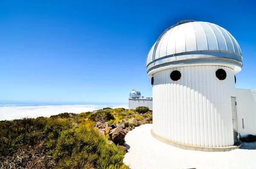
[[[236,39],[208,22],[180,21],[150,49],[153,135],[193,147],[238,142],[236,77],[242,54]]]

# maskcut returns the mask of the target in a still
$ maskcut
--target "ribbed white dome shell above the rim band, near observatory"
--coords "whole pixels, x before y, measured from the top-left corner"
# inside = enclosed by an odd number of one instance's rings
[[[154,46],[157,47],[154,49]],[[224,28],[208,22],[189,22],[168,29],[148,53],[146,67],[154,60],[185,52],[229,51],[241,55],[236,39]],[[199,52],[200,51],[200,52]],[[152,56],[151,56],[152,55]],[[154,65],[156,66],[156,65]]]

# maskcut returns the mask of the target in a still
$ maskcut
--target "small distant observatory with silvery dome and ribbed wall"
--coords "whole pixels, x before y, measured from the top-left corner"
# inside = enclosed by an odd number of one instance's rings
[[[141,97],[140,91],[132,89],[129,97],[129,109],[136,109],[139,106],[146,106],[152,110],[152,97]]]

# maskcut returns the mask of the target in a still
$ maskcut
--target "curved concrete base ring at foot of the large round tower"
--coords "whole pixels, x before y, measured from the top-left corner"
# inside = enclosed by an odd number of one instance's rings
[[[175,147],[178,147],[180,149],[186,149],[186,150],[194,150],[194,151],[201,151],[201,152],[228,152],[230,150],[233,150],[233,149],[239,149],[241,146],[242,146],[242,142],[239,141],[239,143],[237,143],[236,145],[234,146],[227,146],[227,147],[205,147],[205,146],[193,146],[193,145],[189,145],[189,144],[184,144],[184,143],[177,143],[175,141],[172,141],[172,140],[168,140],[168,139],[165,139],[163,137],[160,137],[156,134],[154,134],[153,130],[151,129],[151,135],[163,142],[163,143],[166,143],[166,144],[169,144],[171,146],[175,146]]]

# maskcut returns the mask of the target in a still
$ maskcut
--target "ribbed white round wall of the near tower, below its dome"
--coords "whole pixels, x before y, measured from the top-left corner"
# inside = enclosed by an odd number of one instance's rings
[[[215,72],[224,69],[225,80]],[[172,71],[181,72],[173,81]],[[236,96],[233,69],[186,66],[153,74],[153,132],[160,137],[196,146],[231,146],[231,96]]]

